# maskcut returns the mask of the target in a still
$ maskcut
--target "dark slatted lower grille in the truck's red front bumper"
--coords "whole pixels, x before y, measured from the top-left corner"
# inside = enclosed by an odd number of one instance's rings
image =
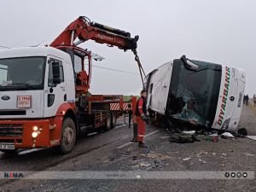
[[[21,124],[1,124],[0,137],[22,137],[23,125]]]

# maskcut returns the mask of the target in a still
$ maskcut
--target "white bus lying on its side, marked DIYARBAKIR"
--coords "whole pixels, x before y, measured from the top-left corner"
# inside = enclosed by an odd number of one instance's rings
[[[150,115],[170,122],[237,131],[246,83],[244,70],[183,55],[148,74]]]

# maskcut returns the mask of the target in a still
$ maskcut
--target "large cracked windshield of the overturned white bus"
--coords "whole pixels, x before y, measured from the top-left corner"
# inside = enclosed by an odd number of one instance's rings
[[[215,117],[221,82],[221,65],[192,61],[196,71],[175,60],[166,112],[172,118],[211,126]]]

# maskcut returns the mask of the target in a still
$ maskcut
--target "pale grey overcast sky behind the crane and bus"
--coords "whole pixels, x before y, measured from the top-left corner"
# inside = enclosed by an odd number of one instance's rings
[[[190,59],[241,67],[246,93],[256,92],[256,1],[253,0],[0,0],[0,45],[49,44],[80,15],[139,35],[138,53],[146,73],[166,61]],[[102,67],[137,73],[131,51],[87,42],[82,45],[106,58]],[[91,91],[137,94],[140,77],[94,68]]]

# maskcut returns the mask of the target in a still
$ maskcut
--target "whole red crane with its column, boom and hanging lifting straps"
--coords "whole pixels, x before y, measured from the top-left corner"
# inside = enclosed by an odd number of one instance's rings
[[[137,66],[143,82],[143,76],[145,73],[143,67],[137,55],[137,40],[138,36],[131,38],[130,32],[125,32],[116,28],[109,26],[104,26],[102,24],[91,22],[87,17],[80,16],[77,20],[74,20],[67,28],[61,32],[61,34],[55,38],[55,40],[49,44],[51,47],[57,49],[73,49],[76,53],[79,52],[79,55],[82,54],[82,72],[79,73],[79,82],[80,85],[77,85],[77,92],[86,92],[90,88],[90,77],[91,77],[91,55],[90,51],[87,49],[81,49],[77,45],[84,43],[87,40],[94,40],[99,44],[108,44],[108,46],[116,46],[119,49],[131,51],[135,55],[135,61],[137,61]],[[77,40],[78,39],[78,40]],[[67,52],[67,50],[66,50]],[[88,74],[84,72],[84,56],[88,56],[89,60],[89,70]]]

